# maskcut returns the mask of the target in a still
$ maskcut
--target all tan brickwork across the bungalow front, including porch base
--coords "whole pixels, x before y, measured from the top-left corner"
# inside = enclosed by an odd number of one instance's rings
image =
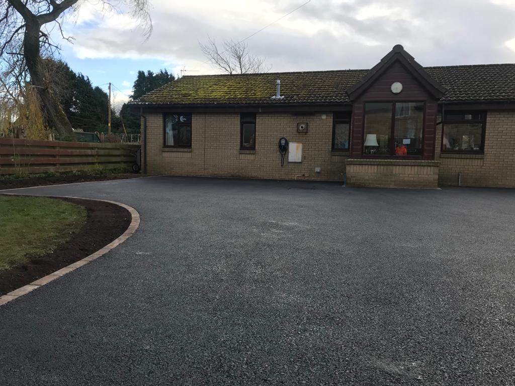
[[[148,173],[177,176],[220,176],[248,178],[294,179],[297,174],[309,174],[308,180],[340,181],[346,170],[347,155],[331,152],[332,114],[325,119],[321,114],[293,116],[289,113],[256,114],[256,150],[254,154],[239,151],[239,114],[193,114],[192,149],[163,149],[163,115],[146,114],[148,142]],[[438,118],[440,120],[440,118]],[[308,133],[297,133],[297,122],[308,123]],[[290,142],[303,144],[302,163],[280,164],[277,142],[281,136]],[[391,186],[392,170],[398,173],[397,186],[409,186],[416,176],[424,187],[433,184],[438,176],[440,185],[457,185],[458,172],[464,186],[515,187],[515,112],[489,111],[487,114],[484,155],[440,154],[441,125],[437,127],[435,160],[440,161],[438,173],[405,172],[397,168],[380,168],[371,171],[364,179],[383,179],[383,182],[359,185]],[[350,166],[350,165],[349,165]],[[348,168],[349,168],[348,166]],[[320,167],[321,172],[315,173]],[[347,171],[348,183],[353,183]],[[379,170],[379,169],[377,169]],[[384,174],[386,173],[386,174]],[[429,174],[428,174],[429,173]],[[427,176],[431,176],[427,179]],[[384,177],[384,178],[383,178]]]

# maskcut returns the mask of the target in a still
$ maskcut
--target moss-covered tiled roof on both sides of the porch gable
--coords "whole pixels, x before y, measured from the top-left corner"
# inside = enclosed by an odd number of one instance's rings
[[[445,102],[515,101],[515,64],[423,67],[447,91]],[[132,104],[339,104],[368,69],[241,75],[189,75]],[[272,99],[276,80],[283,99]]]

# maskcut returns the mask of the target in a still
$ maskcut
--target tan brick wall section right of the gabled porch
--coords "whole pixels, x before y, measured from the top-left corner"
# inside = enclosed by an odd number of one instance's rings
[[[438,119],[440,121],[440,119]],[[435,160],[440,161],[440,185],[515,187],[515,112],[488,111],[484,155],[440,154],[438,125]]]

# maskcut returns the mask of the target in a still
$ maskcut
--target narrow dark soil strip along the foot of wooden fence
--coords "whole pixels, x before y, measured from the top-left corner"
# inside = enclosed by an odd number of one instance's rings
[[[20,179],[0,179],[0,190],[19,189],[31,186],[71,184],[76,182],[92,182],[106,180],[122,180],[127,178],[141,177],[141,174],[60,174],[59,176],[27,177]]]

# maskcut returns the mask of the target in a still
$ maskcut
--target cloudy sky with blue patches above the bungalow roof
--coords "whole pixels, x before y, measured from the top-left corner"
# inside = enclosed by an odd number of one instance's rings
[[[81,0],[63,23],[74,41],[61,41],[61,57],[94,85],[112,82],[121,104],[139,69],[220,73],[199,42],[243,40],[307,1],[150,0],[145,37],[123,5]],[[311,0],[246,43],[271,72],[370,68],[395,44],[423,66],[515,63],[515,0]]]

